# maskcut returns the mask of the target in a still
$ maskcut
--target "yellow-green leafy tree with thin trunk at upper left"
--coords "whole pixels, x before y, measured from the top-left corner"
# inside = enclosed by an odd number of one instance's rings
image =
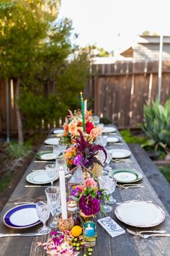
[[[45,4],[44,4],[45,2]],[[19,142],[23,142],[22,117],[17,101],[22,80],[37,74],[37,61],[60,1],[17,0],[0,5],[0,71],[4,79],[16,80],[15,102]]]

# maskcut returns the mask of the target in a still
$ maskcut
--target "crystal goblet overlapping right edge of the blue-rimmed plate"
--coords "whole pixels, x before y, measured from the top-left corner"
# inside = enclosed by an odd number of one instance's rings
[[[38,230],[40,234],[48,234],[50,232],[50,227],[46,226],[46,221],[50,216],[50,208],[47,202],[37,202],[36,204],[37,216],[40,221],[42,221],[43,226]]]

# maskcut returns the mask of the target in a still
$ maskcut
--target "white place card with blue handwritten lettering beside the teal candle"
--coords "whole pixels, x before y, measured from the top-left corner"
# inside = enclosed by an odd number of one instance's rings
[[[97,220],[99,224],[109,233],[110,236],[120,236],[121,234],[125,234],[125,230],[121,228],[112,218],[109,216],[105,218],[100,218]]]

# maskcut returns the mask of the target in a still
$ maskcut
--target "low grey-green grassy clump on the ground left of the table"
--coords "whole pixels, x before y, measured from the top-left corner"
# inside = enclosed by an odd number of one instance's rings
[[[24,158],[32,152],[32,146],[28,143],[11,142],[6,148],[6,153],[12,159]]]

